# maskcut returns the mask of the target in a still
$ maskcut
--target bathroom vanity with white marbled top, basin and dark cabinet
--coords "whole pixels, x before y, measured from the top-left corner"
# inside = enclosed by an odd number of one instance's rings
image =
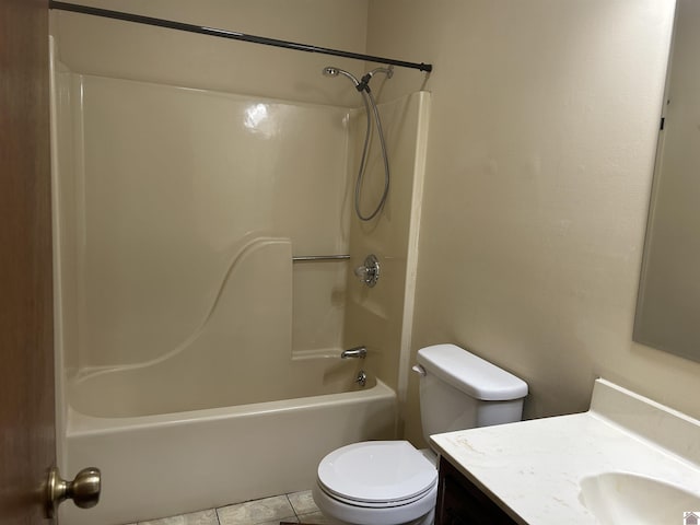
[[[591,409],[431,436],[436,525],[682,524],[700,516],[700,421],[605,380]]]

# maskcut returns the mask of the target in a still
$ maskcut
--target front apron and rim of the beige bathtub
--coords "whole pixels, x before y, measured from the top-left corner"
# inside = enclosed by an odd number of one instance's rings
[[[67,525],[118,525],[307,490],[338,446],[395,436],[396,394],[362,389],[185,412],[96,417],[69,408],[68,472],[102,470],[100,504]]]

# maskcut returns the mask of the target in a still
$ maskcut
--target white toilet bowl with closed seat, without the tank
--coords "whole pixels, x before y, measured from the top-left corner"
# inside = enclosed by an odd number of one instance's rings
[[[438,470],[408,441],[366,441],[328,454],[312,490],[336,524],[430,525]]]

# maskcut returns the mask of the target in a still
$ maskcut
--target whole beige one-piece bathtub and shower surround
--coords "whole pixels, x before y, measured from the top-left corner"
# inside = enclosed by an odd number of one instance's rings
[[[348,312],[365,301],[381,327],[376,298],[405,284],[347,293],[348,261],[292,261],[366,255],[351,241],[359,114],[57,70],[59,456],[67,477],[103,472],[100,505],[63,505],[62,523],[304,490],[327,452],[395,438],[397,396],[372,365],[388,349],[339,355],[365,342]],[[424,104],[383,106],[408,171]]]

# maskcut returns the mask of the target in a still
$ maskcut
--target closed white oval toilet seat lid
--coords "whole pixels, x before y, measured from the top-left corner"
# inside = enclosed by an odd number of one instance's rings
[[[436,479],[435,466],[407,441],[353,443],[318,465],[318,481],[327,492],[359,503],[415,499]]]

